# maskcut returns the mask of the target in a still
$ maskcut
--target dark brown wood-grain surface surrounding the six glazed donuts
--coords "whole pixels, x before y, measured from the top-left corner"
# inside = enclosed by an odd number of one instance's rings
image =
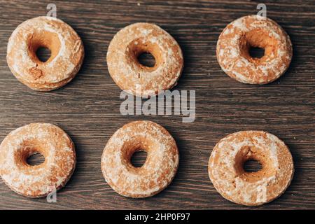
[[[83,39],[83,67],[71,83],[52,92],[22,85],[6,64],[6,45],[21,22],[57,17]],[[57,203],[13,193],[0,181],[0,209],[246,209],[224,200],[209,181],[207,165],[216,142],[239,130],[265,130],[288,144],[295,176],[286,193],[258,209],[315,209],[315,1],[265,1],[267,16],[290,35],[294,57],[288,71],[268,85],[229,78],[216,61],[216,41],[225,25],[255,14],[261,1],[0,1],[0,140],[34,122],[62,127],[76,144],[77,167]],[[122,116],[120,89],[109,76],[106,50],[116,32],[133,22],[154,22],[169,31],[185,56],[177,90],[196,90],[194,123],[182,116]],[[132,200],[115,193],[100,160],[111,134],[132,120],[152,120],[171,132],[181,160],[162,193]],[[255,208],[257,209],[257,208]]]

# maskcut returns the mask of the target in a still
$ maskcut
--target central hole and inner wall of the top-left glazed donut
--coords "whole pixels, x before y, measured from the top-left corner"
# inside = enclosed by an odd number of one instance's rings
[[[57,34],[49,31],[35,32],[27,38],[29,56],[37,64],[51,62],[59,53],[61,43]]]

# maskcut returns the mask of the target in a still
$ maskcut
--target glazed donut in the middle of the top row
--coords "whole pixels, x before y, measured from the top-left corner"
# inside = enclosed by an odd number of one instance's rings
[[[139,63],[138,57],[144,52],[155,58],[153,67]],[[144,98],[174,87],[183,70],[179,44],[167,31],[150,23],[135,23],[118,31],[106,60],[120,89]]]

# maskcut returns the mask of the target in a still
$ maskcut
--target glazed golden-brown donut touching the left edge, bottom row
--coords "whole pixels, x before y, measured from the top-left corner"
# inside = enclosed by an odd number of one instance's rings
[[[27,158],[41,153],[45,162],[31,166]],[[76,152],[70,137],[59,127],[31,123],[20,127],[0,145],[0,175],[15,193],[45,197],[66,185],[76,167]]]

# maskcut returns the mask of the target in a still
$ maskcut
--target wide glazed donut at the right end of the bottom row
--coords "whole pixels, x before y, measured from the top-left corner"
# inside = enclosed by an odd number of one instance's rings
[[[245,172],[244,162],[257,160],[258,172]],[[279,197],[293,178],[288,147],[273,134],[235,132],[216,144],[209,159],[209,177],[218,193],[237,204],[257,206]]]

